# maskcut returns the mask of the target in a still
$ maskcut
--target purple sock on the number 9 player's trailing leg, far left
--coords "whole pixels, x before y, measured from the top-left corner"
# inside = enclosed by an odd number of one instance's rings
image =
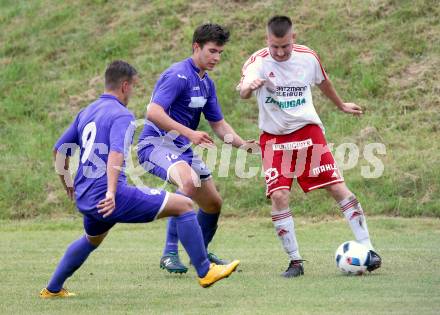
[[[70,244],[55,269],[47,289],[52,293],[59,292],[63,288],[64,281],[81,267],[95,249],[96,247],[90,244],[85,235]]]

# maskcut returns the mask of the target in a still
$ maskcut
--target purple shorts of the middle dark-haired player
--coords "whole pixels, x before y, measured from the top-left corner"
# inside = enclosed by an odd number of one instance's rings
[[[189,146],[179,148],[165,137],[150,138],[148,144],[138,149],[138,159],[149,173],[169,181],[170,167],[182,161],[188,163],[200,180],[211,178],[211,171]]]

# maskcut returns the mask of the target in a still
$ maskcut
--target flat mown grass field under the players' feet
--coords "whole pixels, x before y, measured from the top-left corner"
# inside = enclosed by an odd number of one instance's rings
[[[2,221],[1,314],[438,314],[440,220],[371,218],[383,268],[362,277],[339,274],[336,247],[351,239],[342,219],[297,219],[306,275],[286,280],[287,261],[269,219],[223,219],[213,249],[241,259],[239,271],[202,289],[194,270],[158,268],[164,222],[120,225],[67,287],[69,300],[40,300],[79,217]],[[185,261],[187,257],[184,256]]]

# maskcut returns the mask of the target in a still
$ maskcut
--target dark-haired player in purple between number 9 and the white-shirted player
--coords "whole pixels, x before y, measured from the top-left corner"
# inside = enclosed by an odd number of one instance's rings
[[[228,40],[229,31],[217,24],[204,24],[195,30],[192,56],[173,64],[157,81],[138,144],[140,164],[175,184],[177,193],[190,197],[200,206],[197,219],[206,248],[217,230],[222,199],[210,170],[191,149],[191,144],[213,144],[208,133],[197,131],[201,114],[221,140],[235,147],[253,142],[244,141],[225,121],[214,82],[207,74],[219,63]],[[176,220],[170,218],[160,267],[185,273],[187,267],[178,256],[178,239]],[[212,253],[208,253],[208,258],[216,264],[227,263]]]

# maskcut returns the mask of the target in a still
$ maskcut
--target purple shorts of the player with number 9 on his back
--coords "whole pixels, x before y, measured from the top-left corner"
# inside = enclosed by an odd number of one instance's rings
[[[118,185],[116,209],[103,218],[98,209],[81,211],[87,235],[96,236],[110,230],[116,223],[146,223],[153,221],[165,207],[169,193],[161,189]]]

